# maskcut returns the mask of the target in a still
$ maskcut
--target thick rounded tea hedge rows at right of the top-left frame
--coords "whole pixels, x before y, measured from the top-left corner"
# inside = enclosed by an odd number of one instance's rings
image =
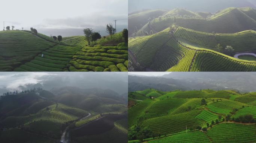
[[[128,47],[84,47],[67,65],[70,71],[128,71]]]

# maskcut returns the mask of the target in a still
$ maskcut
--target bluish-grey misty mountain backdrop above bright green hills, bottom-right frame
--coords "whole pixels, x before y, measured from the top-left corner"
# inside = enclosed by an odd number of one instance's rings
[[[128,79],[129,92],[140,88],[165,91],[174,89],[256,91],[255,72],[129,72]]]

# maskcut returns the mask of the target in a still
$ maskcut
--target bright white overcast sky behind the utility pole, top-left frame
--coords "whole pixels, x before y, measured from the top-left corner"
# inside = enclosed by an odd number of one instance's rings
[[[46,35],[83,35],[83,28],[93,28],[106,35],[107,23],[127,19],[128,0],[12,0],[2,3],[0,21],[15,29],[36,28]],[[116,29],[128,27],[128,20],[118,20]],[[1,29],[2,30],[2,29]]]

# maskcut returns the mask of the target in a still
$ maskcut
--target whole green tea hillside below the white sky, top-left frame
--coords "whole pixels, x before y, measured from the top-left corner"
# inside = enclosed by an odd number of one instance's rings
[[[53,38],[0,31],[0,71],[127,71],[127,45],[87,46],[84,36]]]

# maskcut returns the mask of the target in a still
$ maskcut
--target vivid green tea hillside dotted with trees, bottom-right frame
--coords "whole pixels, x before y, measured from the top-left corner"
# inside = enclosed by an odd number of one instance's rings
[[[177,90],[158,91],[162,94],[152,94],[152,99],[141,98],[153,92],[156,90],[129,93],[129,100],[140,99],[129,105],[129,143],[256,141],[255,93]],[[237,130],[248,136],[245,138]]]

